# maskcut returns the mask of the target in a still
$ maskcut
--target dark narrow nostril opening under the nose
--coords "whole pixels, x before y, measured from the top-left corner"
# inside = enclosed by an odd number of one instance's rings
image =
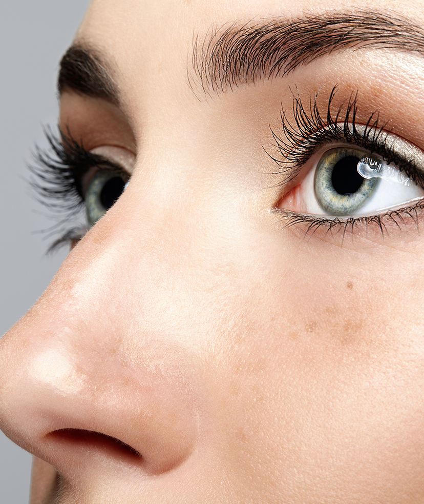
[[[102,434],[101,432],[86,431],[83,429],[59,429],[48,434],[50,439],[59,441],[67,448],[83,450],[86,452],[96,450],[108,457],[114,457],[120,461],[140,463],[143,458],[133,447],[120,439]]]

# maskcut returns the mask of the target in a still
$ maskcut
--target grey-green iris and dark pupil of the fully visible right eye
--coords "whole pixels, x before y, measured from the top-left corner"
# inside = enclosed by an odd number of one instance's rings
[[[352,215],[373,195],[380,179],[364,178],[358,163],[369,154],[338,147],[327,151],[316,168],[314,190],[321,208],[331,215]]]

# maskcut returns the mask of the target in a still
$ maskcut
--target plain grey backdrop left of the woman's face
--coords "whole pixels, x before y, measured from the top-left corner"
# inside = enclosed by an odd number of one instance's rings
[[[0,9],[0,334],[43,293],[66,250],[46,256],[52,225],[23,177],[43,125],[57,124],[55,81],[89,0],[3,1]],[[31,457],[0,432],[0,502],[28,502]]]

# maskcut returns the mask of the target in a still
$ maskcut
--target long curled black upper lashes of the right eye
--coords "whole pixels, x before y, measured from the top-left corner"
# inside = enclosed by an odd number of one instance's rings
[[[309,111],[305,109],[299,95],[293,94],[293,117],[295,126],[287,119],[284,109],[281,111],[281,129],[283,135],[278,135],[271,128],[272,137],[279,149],[282,159],[267,154],[280,166],[288,167],[283,173],[286,178],[280,183],[286,184],[296,177],[307,163],[314,151],[325,144],[335,141],[344,142],[377,153],[388,163],[394,163],[411,180],[424,188],[424,173],[418,170],[413,162],[395,152],[388,136],[387,123],[379,124],[379,113],[373,112],[365,125],[358,128],[358,92],[352,93],[336,112],[332,112],[332,103],[337,91],[337,85],[331,90],[325,118],[317,105],[318,94],[311,97]]]

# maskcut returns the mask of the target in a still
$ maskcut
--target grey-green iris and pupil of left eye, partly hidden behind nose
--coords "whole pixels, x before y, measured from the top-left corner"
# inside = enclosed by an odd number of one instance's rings
[[[87,218],[93,226],[112,207],[125,189],[128,177],[119,171],[98,170],[86,192]]]

